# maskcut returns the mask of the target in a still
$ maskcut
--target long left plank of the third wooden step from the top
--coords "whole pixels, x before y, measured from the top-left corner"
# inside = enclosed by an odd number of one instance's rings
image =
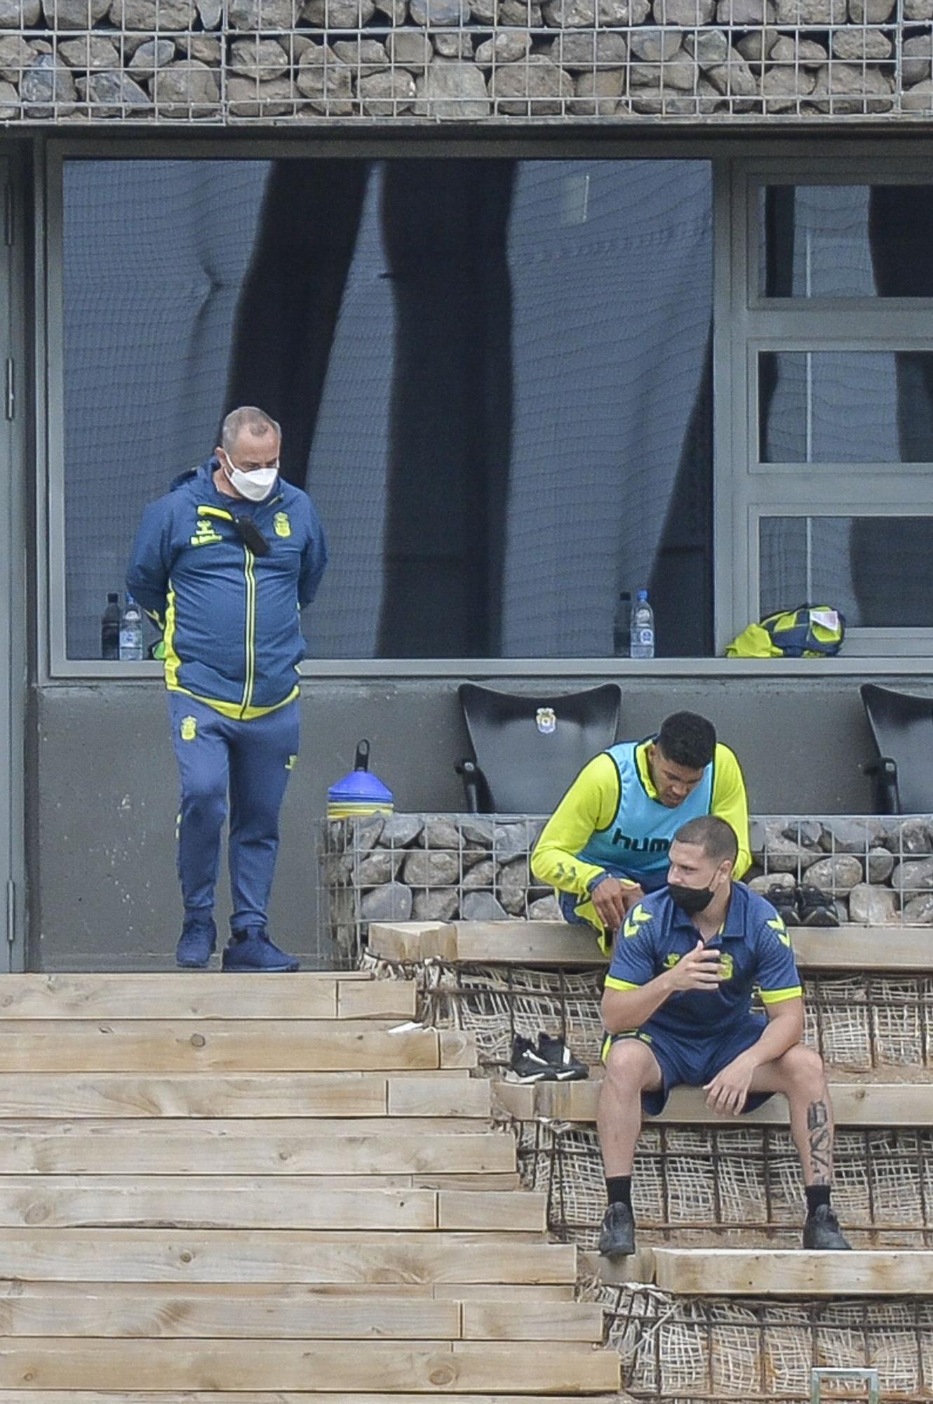
[[[438,1106],[445,1082],[431,1098]],[[457,1098],[448,1101],[453,1106]],[[387,1106],[384,1073],[0,1073],[0,1118],[384,1118]]]

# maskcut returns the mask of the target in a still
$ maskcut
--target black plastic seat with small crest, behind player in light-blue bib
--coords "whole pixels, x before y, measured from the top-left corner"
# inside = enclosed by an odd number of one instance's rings
[[[459,688],[473,760],[457,765],[471,814],[550,814],[574,776],[616,740],[622,688],[563,696]]]

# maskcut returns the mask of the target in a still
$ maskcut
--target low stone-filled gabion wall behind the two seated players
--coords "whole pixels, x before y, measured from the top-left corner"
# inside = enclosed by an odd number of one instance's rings
[[[323,925],[356,951],[370,921],[560,920],[529,854],[540,816],[391,814],[324,821]],[[811,883],[842,921],[933,925],[933,816],[752,820],[758,892]]]

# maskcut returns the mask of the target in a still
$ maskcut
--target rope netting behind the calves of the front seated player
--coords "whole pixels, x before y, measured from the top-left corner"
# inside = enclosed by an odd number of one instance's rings
[[[519,1122],[518,1147],[551,1233],[595,1248],[606,1207],[595,1126]],[[647,1125],[631,1188],[644,1244],[800,1244],[804,1189],[784,1127]],[[933,1244],[933,1132],[838,1132],[833,1203],[859,1247]]]

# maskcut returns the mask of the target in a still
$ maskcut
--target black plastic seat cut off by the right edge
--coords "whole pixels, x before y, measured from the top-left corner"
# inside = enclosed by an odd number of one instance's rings
[[[933,698],[863,682],[861,701],[878,760],[874,776],[878,814],[929,814],[933,810]]]

